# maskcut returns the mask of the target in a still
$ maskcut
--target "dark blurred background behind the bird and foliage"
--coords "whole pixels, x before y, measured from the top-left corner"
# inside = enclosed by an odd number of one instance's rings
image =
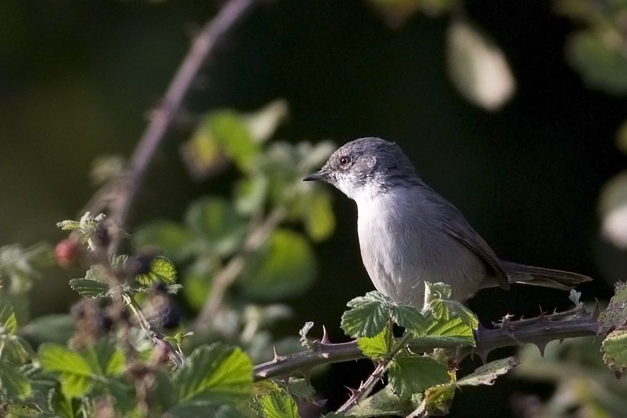
[[[565,45],[577,23],[555,13],[554,3],[464,5],[464,18],[500,46],[516,79],[516,93],[498,111],[471,104],[451,84],[446,33],[454,14],[417,13],[391,26],[371,4],[348,0],[258,8],[203,68],[185,111],[258,109],[284,98],[290,117],[280,139],[396,141],[502,258],[589,274],[596,280],[583,289],[585,299],[607,299],[624,271],[612,264],[621,254],[598,238],[598,197],[627,162],[614,144],[627,100],[591,88],[568,64]],[[55,223],[76,217],[95,192],[94,158],[130,154],[194,31],[218,8],[203,0],[0,2],[0,245],[64,235]],[[225,178],[194,183],[185,171],[179,147],[192,127],[183,121],[170,130],[131,231],[147,219],[180,219],[196,196],[229,192]],[[284,334],[313,320],[340,341],[346,301],[372,288],[355,205],[334,197],[336,232],[316,248],[314,287],[288,301],[297,316]],[[76,299],[66,283],[63,272],[41,281],[33,314],[66,311]],[[470,307],[490,323],[567,304],[562,293],[518,287],[483,291]],[[318,386],[335,403],[345,394],[340,384],[362,377],[342,364]],[[469,389],[451,416],[504,416],[509,405],[493,400],[529,389],[521,385],[504,379]],[[470,400],[476,408],[460,410]]]

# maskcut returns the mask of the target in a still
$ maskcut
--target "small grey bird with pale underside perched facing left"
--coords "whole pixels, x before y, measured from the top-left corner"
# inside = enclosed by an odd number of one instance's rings
[[[375,288],[396,302],[422,307],[424,281],[447,283],[453,298],[465,301],[481,288],[509,289],[510,283],[568,290],[591,280],[500,260],[392,142],[351,141],[303,178],[309,180],[330,183],[357,203],[362,261]]]

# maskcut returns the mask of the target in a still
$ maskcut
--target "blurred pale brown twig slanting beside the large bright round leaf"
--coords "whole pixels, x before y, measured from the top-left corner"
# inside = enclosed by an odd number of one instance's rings
[[[258,224],[251,230],[240,252],[233,256],[229,263],[213,278],[211,293],[205,301],[198,318],[196,318],[196,327],[206,328],[212,324],[220,307],[222,307],[224,294],[246,267],[249,255],[263,245],[272,231],[283,222],[286,215],[284,208],[276,208],[270,212],[270,215],[265,217],[261,224]]]

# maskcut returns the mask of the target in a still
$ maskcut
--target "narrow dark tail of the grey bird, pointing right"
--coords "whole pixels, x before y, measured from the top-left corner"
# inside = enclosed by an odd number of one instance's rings
[[[550,268],[532,267],[531,265],[502,261],[510,283],[532,284],[568,291],[580,283],[591,281],[591,277],[583,274],[552,270]]]

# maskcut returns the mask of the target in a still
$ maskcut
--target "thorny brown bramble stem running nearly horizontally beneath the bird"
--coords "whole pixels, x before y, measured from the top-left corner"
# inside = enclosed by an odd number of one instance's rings
[[[545,319],[542,319],[545,318]],[[548,341],[574,338],[576,336],[597,335],[599,324],[594,315],[587,314],[571,320],[551,321],[551,316],[536,318],[535,323],[527,323],[513,330],[496,328],[477,330],[477,346],[460,350],[459,359],[478,353],[482,358],[496,348],[519,346],[523,343],[543,345]],[[516,321],[512,321],[516,324]],[[441,344],[440,344],[441,346]],[[433,345],[415,346],[410,344],[412,351],[417,353],[433,350]],[[455,346],[444,348],[456,348]],[[270,362],[254,367],[256,380],[286,376],[295,371],[307,371],[321,364],[347,362],[366,358],[357,347],[357,341],[348,343],[316,343],[316,347],[292,355],[276,356]]]

